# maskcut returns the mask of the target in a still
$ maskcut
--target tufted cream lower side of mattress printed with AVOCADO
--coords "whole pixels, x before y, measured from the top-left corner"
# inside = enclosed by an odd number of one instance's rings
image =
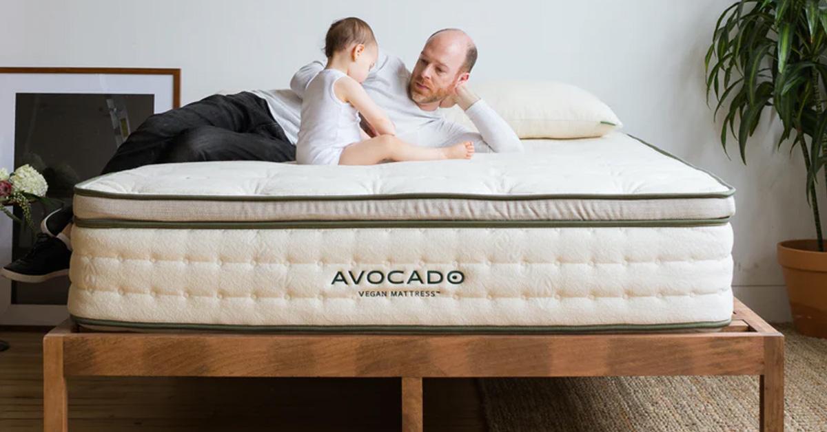
[[[331,230],[75,227],[73,244],[69,311],[96,320],[661,325],[729,320],[733,305],[729,224]]]

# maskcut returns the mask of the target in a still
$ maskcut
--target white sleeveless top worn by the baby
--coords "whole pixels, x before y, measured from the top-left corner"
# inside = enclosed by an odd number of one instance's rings
[[[296,141],[299,164],[338,164],[342,149],[362,140],[359,112],[333,93],[333,84],[344,76],[337,69],[323,69],[308,84]]]

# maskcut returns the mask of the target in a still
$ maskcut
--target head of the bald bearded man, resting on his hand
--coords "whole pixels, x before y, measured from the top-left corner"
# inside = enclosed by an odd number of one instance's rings
[[[461,72],[466,50],[464,41],[447,31],[428,40],[411,73],[411,100],[421,106],[452,95],[457,84],[468,78],[466,72]]]

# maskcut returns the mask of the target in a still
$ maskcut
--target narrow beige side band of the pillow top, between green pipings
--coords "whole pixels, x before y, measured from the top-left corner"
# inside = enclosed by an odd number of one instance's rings
[[[734,197],[485,200],[427,198],[325,201],[176,201],[74,197],[81,219],[133,221],[662,221],[718,219]]]

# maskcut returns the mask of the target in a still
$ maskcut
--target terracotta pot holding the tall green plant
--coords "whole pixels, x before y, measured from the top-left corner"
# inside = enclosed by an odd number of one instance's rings
[[[786,240],[777,250],[796,331],[827,339],[827,252],[818,240]]]

